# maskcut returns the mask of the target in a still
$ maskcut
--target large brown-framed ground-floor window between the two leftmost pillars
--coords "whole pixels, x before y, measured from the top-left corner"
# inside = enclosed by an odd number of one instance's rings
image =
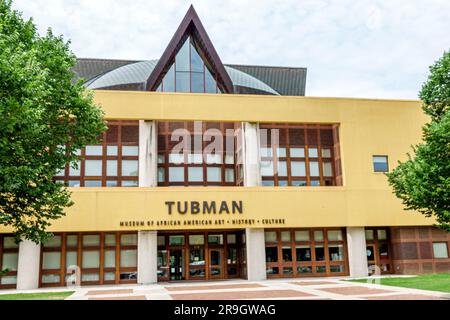
[[[77,271],[78,270],[78,271]],[[137,281],[137,233],[63,233],[42,245],[41,286]]]

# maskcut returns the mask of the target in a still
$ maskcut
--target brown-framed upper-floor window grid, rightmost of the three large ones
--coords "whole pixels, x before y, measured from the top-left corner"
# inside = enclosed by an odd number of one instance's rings
[[[302,124],[262,124],[261,129],[267,129],[267,144],[261,143],[261,148],[270,148],[272,156],[264,156],[261,153],[261,162],[272,161],[274,170],[278,168],[279,162],[286,163],[287,175],[280,176],[279,173],[274,173],[271,176],[262,176],[263,185],[274,186],[336,186],[341,185],[342,179],[338,177],[336,165],[339,164],[339,148],[336,147],[338,143],[337,128],[333,125],[302,125]],[[285,156],[278,156],[277,146],[271,143],[271,130],[279,130],[279,148],[286,148]],[[302,132],[300,143],[291,143],[294,131]],[[328,135],[324,138],[322,135]],[[314,141],[313,141],[314,140]],[[328,140],[328,141],[327,141]],[[303,156],[293,156],[291,150],[295,148],[303,148]],[[317,149],[317,156],[310,156],[309,153],[313,149]],[[324,156],[323,150],[329,150],[329,156]],[[304,163],[305,175],[294,176],[292,172],[292,163]],[[319,176],[311,175],[312,164],[317,163]],[[331,167],[331,175],[324,175],[324,165]]]

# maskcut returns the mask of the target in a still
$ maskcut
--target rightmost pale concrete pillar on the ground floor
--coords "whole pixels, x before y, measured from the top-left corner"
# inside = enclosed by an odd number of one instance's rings
[[[351,277],[367,277],[366,232],[364,228],[347,228],[348,262]]]

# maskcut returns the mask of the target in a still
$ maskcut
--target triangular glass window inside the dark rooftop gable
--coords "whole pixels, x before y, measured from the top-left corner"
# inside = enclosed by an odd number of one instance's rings
[[[205,65],[193,38],[188,37],[178,51],[156,91],[221,93],[215,77]]]

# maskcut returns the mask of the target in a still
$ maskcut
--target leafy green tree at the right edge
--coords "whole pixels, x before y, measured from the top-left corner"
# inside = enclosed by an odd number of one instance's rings
[[[423,143],[414,155],[388,174],[394,194],[407,210],[434,217],[450,231],[450,52],[430,67],[419,97],[431,122],[423,127]]]

